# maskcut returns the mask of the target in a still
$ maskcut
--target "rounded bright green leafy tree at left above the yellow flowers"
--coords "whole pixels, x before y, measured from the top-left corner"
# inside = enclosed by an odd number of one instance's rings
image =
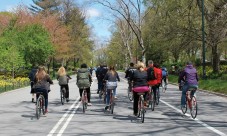
[[[25,26],[19,31],[16,41],[27,65],[45,64],[54,49],[48,32],[38,24]]]

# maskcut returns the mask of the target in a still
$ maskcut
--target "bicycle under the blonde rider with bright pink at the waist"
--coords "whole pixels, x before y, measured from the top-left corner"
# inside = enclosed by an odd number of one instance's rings
[[[137,93],[137,95],[139,95],[137,117],[140,117],[141,122],[144,123],[144,116],[145,116],[146,109],[145,109],[145,106],[144,106],[143,96],[145,95],[145,93]]]

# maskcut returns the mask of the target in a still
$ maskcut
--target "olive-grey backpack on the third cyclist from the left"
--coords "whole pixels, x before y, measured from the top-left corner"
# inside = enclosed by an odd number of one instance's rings
[[[88,71],[78,71],[77,73],[77,86],[78,88],[89,88],[90,81],[89,81],[89,72]]]

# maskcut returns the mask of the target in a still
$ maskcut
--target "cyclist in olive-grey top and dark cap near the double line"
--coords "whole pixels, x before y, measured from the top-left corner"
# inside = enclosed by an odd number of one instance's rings
[[[77,86],[79,88],[79,92],[80,92],[80,100],[82,98],[82,93],[83,93],[83,89],[86,89],[87,91],[87,98],[88,98],[88,106],[91,106],[91,101],[90,101],[90,96],[91,96],[91,92],[90,92],[90,86],[91,86],[91,82],[92,82],[92,78],[91,78],[91,74],[88,70],[87,64],[82,64],[80,66],[80,69],[78,70],[77,73]]]

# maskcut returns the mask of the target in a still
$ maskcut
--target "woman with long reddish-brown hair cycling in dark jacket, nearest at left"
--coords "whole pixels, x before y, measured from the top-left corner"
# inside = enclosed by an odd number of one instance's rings
[[[45,98],[45,113],[48,113],[48,92],[50,91],[50,84],[53,84],[53,81],[50,79],[50,76],[46,73],[45,68],[40,66],[35,75],[34,80],[34,89],[37,92],[42,92]],[[36,95],[38,98],[38,95]]]

